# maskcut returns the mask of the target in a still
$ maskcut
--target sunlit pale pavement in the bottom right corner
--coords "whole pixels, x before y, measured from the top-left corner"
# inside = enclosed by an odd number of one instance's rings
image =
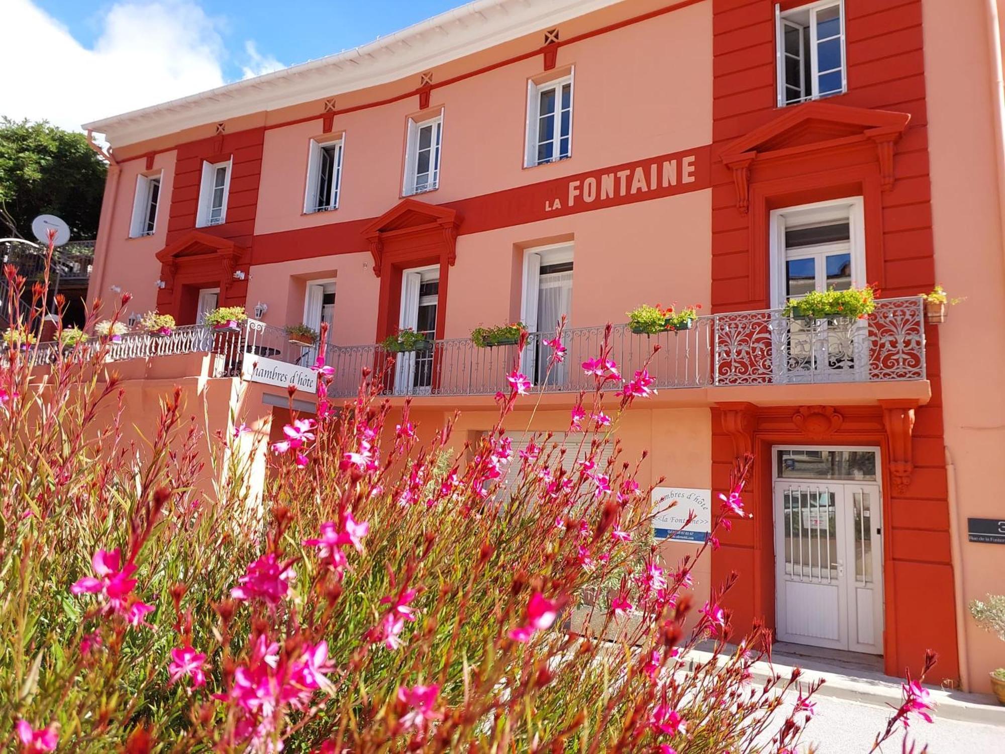
[[[816,696],[816,714],[806,729],[800,751],[808,751],[810,742],[818,754],[866,754],[878,731],[886,727],[890,710],[832,697]],[[913,723],[911,737],[929,745],[929,754],[1005,754],[1005,727],[940,719]],[[902,733],[897,733],[883,747],[883,754],[901,754]]]

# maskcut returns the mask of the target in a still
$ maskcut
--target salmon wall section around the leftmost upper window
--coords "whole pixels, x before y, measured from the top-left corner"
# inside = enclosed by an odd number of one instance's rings
[[[155,282],[161,276],[161,263],[154,254],[164,248],[168,235],[168,214],[175,183],[175,151],[161,152],[154,157],[154,166],[147,170],[145,160],[130,160],[121,166],[119,190],[113,199],[108,227],[108,252],[99,272],[100,279],[92,279],[88,301],[100,297],[111,302],[115,295],[112,286],[133,295],[129,309],[144,313],[157,306]],[[164,171],[158,200],[157,223],[153,235],[130,238],[133,220],[133,200],[136,196],[136,179],[139,175],[155,175]]]

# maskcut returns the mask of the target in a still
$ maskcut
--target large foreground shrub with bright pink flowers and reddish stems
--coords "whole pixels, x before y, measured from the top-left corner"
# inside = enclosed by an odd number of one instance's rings
[[[597,359],[613,365],[610,335]],[[124,447],[118,378],[94,376],[106,353],[57,353],[44,390],[29,358],[0,364],[0,740],[81,752],[795,747],[817,686],[798,671],[749,683],[770,635],[727,650],[720,603],[735,575],[697,611],[687,593],[718,530],[747,516],[750,458],[713,538],[668,566],[640,458],[615,443],[601,461],[615,442],[604,424],[580,430],[571,465],[547,435],[517,456],[505,426],[531,398],[516,370],[490,431],[461,445],[449,422],[420,444],[408,405],[392,420],[379,401],[381,371],[337,411],[321,361],[318,413],[290,406],[257,499],[239,417],[203,449],[178,388],[149,442]],[[616,425],[648,394],[647,368],[616,397],[595,375],[581,399]],[[217,472],[210,493],[204,465]],[[571,610],[596,593],[603,626],[577,634]],[[712,662],[689,663],[706,640]],[[912,696],[896,720],[909,702],[924,710]]]

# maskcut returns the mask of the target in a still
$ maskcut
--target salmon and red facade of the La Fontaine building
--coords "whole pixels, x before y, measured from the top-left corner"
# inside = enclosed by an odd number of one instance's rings
[[[736,571],[737,630],[764,620],[892,675],[932,647],[940,678],[986,690],[1003,650],[966,604],[1005,588],[1005,548],[967,529],[1005,518],[987,479],[1005,453],[997,12],[479,0],[88,124],[114,159],[89,293],[180,325],[217,306],[265,329],[327,322],[336,397],[411,328],[433,345],[399,355],[385,392],[428,431],[461,408],[460,442],[492,425],[516,366],[472,329],[528,326],[520,368],[546,394],[510,430],[561,438],[613,323],[629,374],[660,346],[658,393],[619,427],[626,453],[649,450],[642,481],[720,492],[756,458],[753,518],[698,565],[699,595]],[[937,284],[966,297],[943,324],[921,298]],[[866,320],[782,312],[866,285]],[[633,334],[644,303],[701,316]],[[569,358],[549,372],[563,317]],[[279,341],[258,353],[313,359]],[[285,391],[254,395],[242,408],[267,435]]]

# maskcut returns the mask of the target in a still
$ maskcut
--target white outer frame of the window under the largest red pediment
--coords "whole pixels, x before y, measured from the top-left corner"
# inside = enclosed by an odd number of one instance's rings
[[[842,208],[844,211],[842,212]],[[769,217],[769,261],[771,266],[771,308],[780,309],[788,301],[784,289],[786,281],[786,262],[788,249],[785,245],[786,221],[798,215],[798,224],[806,225],[816,222],[828,222],[847,218],[848,246],[851,256],[851,286],[862,288],[865,285],[865,213],[864,200],[861,196],[849,196],[828,201],[798,204],[791,207],[781,207],[771,210]],[[823,244],[821,244],[823,245]],[[821,253],[824,249],[818,249]],[[811,253],[800,254],[810,256]]]

